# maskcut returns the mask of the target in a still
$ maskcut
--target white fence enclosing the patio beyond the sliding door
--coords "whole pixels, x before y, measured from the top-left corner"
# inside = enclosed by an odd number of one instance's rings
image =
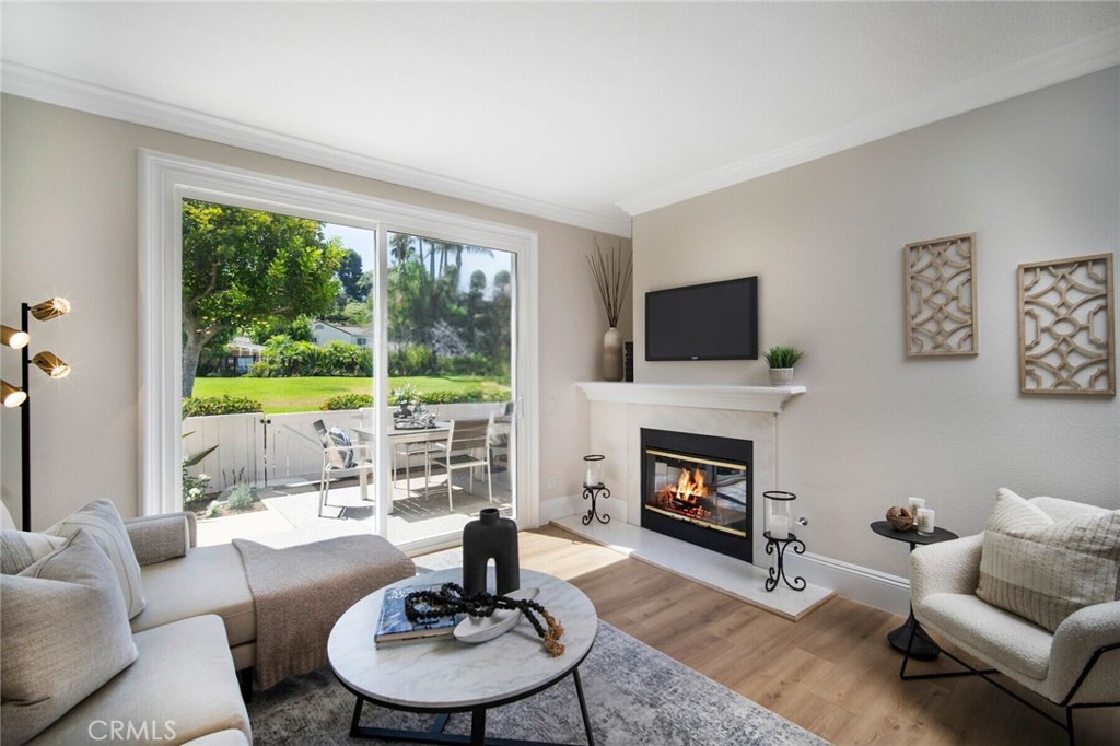
[[[439,419],[482,419],[502,413],[503,402],[439,404]],[[190,474],[208,474],[211,491],[220,492],[244,482],[254,487],[291,484],[301,478],[318,479],[323,447],[312,423],[323,420],[329,430],[339,427],[354,437],[352,427],[361,422],[356,409],[293,412],[290,414],[217,414],[188,417],[183,421],[185,456],[217,449],[190,467]],[[189,433],[189,435],[187,435]]]

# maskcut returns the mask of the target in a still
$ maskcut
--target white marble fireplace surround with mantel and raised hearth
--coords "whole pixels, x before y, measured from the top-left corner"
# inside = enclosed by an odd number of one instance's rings
[[[772,559],[766,554],[766,541],[758,529],[763,525],[762,493],[778,488],[777,418],[791,399],[805,392],[804,386],[603,382],[576,385],[589,402],[590,450],[606,456],[603,481],[612,495],[603,509],[612,520],[606,525],[592,521],[584,526],[580,516],[573,515],[553,523],[791,619],[801,618],[832,595],[831,590],[813,585],[803,593],[788,590],[781,584],[772,593],[764,588]],[[641,528],[642,428],[754,442],[754,565]]]

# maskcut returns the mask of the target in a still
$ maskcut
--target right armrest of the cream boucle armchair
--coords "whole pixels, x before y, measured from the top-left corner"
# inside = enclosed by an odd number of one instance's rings
[[[1120,600],[1080,608],[1058,625],[1051,647],[1049,678],[1055,690],[1065,696],[1093,653],[1105,645],[1120,645]],[[1102,679],[1110,682],[1108,686],[1114,692],[1120,682],[1120,650],[1101,656],[1086,688],[1098,688]],[[1093,692],[1080,693],[1092,697]],[[1081,697],[1077,699],[1083,701]]]

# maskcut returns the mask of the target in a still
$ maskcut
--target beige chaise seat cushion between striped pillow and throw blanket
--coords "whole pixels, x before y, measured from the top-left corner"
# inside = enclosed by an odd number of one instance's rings
[[[186,557],[146,565],[148,606],[132,618],[132,631],[151,630],[199,614],[217,614],[230,646],[256,638],[256,609],[241,552],[233,544],[196,547]]]

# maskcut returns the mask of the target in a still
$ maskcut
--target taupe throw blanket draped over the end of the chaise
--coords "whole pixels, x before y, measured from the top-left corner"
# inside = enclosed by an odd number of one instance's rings
[[[234,539],[256,607],[256,677],[262,689],[327,662],[327,637],[343,613],[416,566],[381,537],[357,534],[276,549]],[[373,630],[370,631],[373,645]]]

